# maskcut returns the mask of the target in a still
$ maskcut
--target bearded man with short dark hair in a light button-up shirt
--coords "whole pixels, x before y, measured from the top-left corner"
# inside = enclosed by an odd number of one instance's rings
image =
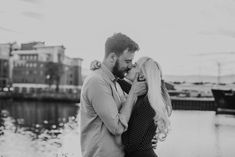
[[[101,68],[84,81],[80,107],[83,157],[124,156],[121,134],[127,130],[133,105],[146,92],[146,84],[135,81],[126,97],[116,81],[131,69],[137,50],[138,44],[128,36],[114,34],[105,43]]]

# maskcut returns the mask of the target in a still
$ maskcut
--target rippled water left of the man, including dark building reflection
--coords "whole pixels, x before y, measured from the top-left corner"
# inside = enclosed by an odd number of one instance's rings
[[[0,109],[1,157],[78,155],[65,144],[79,137],[76,104],[5,101]]]

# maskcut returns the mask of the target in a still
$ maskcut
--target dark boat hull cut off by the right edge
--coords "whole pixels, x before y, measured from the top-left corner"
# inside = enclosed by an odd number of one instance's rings
[[[235,90],[212,89],[216,103],[216,114],[235,115]]]

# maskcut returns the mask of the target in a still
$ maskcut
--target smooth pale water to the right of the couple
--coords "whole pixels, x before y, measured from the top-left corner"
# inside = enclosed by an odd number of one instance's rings
[[[172,130],[159,143],[159,156],[233,157],[235,117],[210,111],[174,111]]]

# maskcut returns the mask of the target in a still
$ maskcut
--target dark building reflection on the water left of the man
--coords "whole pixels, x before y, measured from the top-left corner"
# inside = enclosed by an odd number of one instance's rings
[[[2,101],[3,115],[14,118],[16,126],[34,129],[55,129],[63,126],[69,117],[77,115],[78,106],[74,103]]]

